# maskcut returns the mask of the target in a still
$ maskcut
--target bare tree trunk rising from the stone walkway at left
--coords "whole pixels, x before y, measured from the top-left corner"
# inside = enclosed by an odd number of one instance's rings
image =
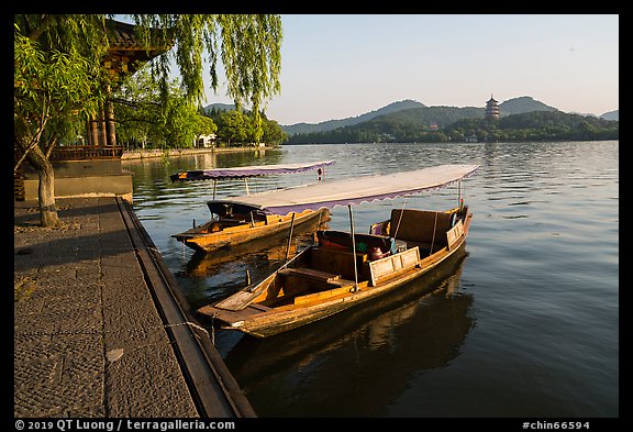
[[[40,222],[42,226],[57,226],[60,224],[55,206],[55,174],[53,164],[46,158],[42,148],[35,146],[26,155],[26,160],[40,176],[37,198],[40,200]]]

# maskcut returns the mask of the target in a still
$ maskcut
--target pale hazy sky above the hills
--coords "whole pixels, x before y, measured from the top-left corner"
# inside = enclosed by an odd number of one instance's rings
[[[565,112],[619,109],[617,14],[281,19],[281,93],[266,110],[280,124],[356,117],[403,99],[484,107],[491,95],[530,96]],[[231,102],[224,88],[208,92],[213,102]]]

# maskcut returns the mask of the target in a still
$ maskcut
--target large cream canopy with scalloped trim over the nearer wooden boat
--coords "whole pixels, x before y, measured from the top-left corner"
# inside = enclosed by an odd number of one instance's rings
[[[479,165],[440,165],[412,171],[351,177],[233,198],[276,214],[359,204],[441,189],[462,180]]]

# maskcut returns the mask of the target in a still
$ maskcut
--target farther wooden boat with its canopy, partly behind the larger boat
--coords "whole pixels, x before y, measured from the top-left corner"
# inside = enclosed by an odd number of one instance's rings
[[[325,166],[333,163],[334,160],[262,165],[175,174],[170,176],[173,181],[213,180],[213,199],[207,202],[211,212],[211,219],[208,222],[201,225],[193,223],[193,228],[171,236],[195,251],[209,253],[222,248],[233,248],[255,240],[279,235],[287,236],[295,228],[309,223],[319,226],[330,220],[329,209],[307,209],[300,212],[276,214],[260,206],[248,204],[240,200],[215,200],[215,186],[218,180],[244,179],[248,193],[248,178],[307,170],[316,170],[319,181],[321,181]]]

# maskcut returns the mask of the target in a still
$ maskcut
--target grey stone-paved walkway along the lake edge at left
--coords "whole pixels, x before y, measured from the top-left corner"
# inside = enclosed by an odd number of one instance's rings
[[[207,374],[198,379],[179,361],[195,351],[179,352],[167,329],[184,323],[157,310],[156,270],[141,262],[121,201],[56,201],[56,229],[38,226],[36,202],[14,203],[14,417],[207,417],[204,392],[218,398],[213,416],[241,417],[224,408],[235,401],[222,400],[214,366],[193,367]],[[242,413],[255,417],[242,397]]]

